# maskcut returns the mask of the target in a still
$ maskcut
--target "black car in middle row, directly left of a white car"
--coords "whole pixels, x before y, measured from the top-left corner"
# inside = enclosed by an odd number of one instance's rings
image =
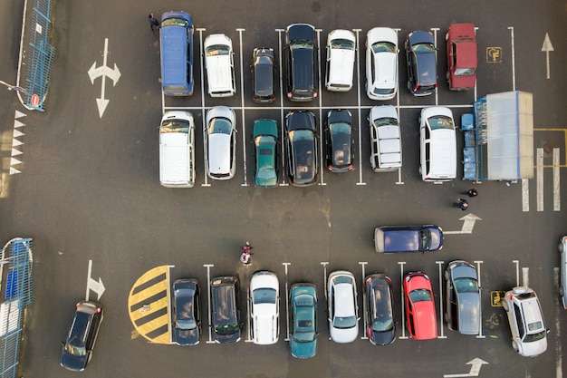
[[[332,172],[352,170],[351,136],[351,111],[329,111],[325,128],[327,169]]]

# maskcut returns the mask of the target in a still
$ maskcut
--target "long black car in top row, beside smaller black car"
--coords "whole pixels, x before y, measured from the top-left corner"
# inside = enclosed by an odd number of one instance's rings
[[[303,102],[317,97],[318,56],[312,25],[291,24],[285,29],[286,89],[290,100]]]

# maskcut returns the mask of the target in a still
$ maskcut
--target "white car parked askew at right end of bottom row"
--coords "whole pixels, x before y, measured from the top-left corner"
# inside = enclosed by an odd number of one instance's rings
[[[533,289],[515,286],[507,291],[502,306],[508,315],[512,347],[520,355],[534,357],[547,350],[547,333],[542,306]]]

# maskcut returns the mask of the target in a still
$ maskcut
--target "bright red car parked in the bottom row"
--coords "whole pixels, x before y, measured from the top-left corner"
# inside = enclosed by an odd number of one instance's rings
[[[416,340],[437,338],[437,315],[429,277],[422,272],[409,272],[404,278],[406,326]]]

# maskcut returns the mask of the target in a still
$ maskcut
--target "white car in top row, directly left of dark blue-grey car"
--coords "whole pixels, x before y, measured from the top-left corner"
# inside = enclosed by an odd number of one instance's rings
[[[375,27],[366,34],[366,94],[370,100],[390,100],[398,92],[398,34]]]

